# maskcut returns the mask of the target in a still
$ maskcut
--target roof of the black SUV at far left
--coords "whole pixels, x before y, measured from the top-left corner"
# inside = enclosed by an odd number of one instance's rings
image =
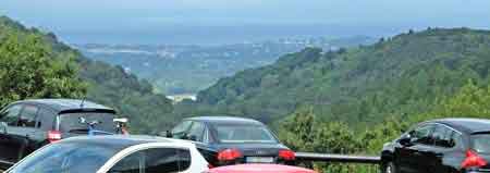
[[[83,111],[83,110],[98,110],[109,113],[115,113],[111,108],[102,104],[98,104],[88,100],[78,99],[29,99],[16,101],[14,103],[33,103],[49,107],[57,111],[58,113],[70,112],[70,111]],[[82,104],[83,103],[83,104]]]

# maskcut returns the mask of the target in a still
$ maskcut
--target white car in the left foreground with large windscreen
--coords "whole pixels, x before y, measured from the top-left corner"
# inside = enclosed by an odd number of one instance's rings
[[[109,135],[51,144],[4,173],[200,173],[208,166],[188,141]]]

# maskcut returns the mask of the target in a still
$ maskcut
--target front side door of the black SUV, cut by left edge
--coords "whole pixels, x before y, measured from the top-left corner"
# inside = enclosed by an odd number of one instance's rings
[[[0,113],[0,162],[15,163],[19,153],[15,150],[17,141],[9,133],[17,126],[19,114],[22,111],[22,104],[12,104],[3,109]]]

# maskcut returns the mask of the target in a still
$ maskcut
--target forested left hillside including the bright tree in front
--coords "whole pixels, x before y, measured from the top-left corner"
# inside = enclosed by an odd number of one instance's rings
[[[79,98],[113,107],[136,133],[173,123],[171,101],[120,66],[91,61],[51,33],[0,17],[0,103],[26,98]],[[8,69],[10,66],[10,69]]]

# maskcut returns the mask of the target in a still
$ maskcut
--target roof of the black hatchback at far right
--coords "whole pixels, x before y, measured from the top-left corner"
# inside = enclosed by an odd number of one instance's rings
[[[429,122],[445,124],[469,134],[490,132],[490,120],[486,119],[439,119]]]

